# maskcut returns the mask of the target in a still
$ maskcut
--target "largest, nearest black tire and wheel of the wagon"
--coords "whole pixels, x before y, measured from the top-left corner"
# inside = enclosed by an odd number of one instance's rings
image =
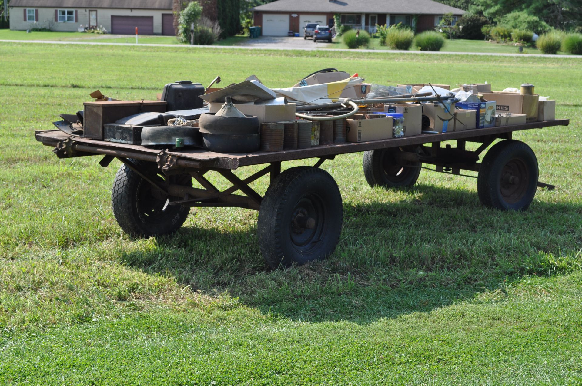
[[[343,206],[327,171],[300,166],[283,171],[269,186],[258,212],[257,234],[272,268],[327,258],[338,244]]]

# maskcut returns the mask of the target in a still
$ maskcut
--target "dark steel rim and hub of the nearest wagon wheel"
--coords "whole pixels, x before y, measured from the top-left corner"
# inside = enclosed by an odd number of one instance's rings
[[[307,219],[313,219],[313,228],[306,227]],[[308,193],[293,207],[289,237],[293,248],[299,253],[309,253],[317,248],[325,233],[325,206],[321,196]]]

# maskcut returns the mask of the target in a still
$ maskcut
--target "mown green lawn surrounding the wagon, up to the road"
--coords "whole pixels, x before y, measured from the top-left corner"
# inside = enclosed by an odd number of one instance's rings
[[[582,383],[580,59],[0,43],[0,64],[0,384]],[[271,271],[257,213],[194,208],[175,236],[131,240],[111,212],[119,163],[59,160],[34,140],[97,89],[152,99],[218,74],[285,87],[325,67],[380,84],[534,83],[570,126],[514,138],[556,190],[504,213],[481,207],[473,178],[372,189],[361,154],[341,155],[322,166],[343,197],[338,248]]]

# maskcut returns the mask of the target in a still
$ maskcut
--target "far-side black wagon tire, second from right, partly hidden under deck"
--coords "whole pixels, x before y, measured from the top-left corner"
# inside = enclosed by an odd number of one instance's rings
[[[408,162],[407,166],[401,166],[395,158],[398,152],[398,148],[364,152],[364,176],[372,188],[410,188],[416,183],[422,163]]]

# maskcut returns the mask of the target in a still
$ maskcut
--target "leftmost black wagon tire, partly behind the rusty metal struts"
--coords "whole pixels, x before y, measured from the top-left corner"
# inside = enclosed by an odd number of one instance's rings
[[[153,162],[130,160],[138,170],[147,171],[149,176],[157,174]],[[161,176],[166,183],[192,186],[188,175]],[[190,208],[183,205],[169,205],[176,197],[166,196],[154,188],[135,171],[123,164],[119,167],[111,191],[113,215],[122,230],[131,237],[150,237],[171,234],[186,220]]]

